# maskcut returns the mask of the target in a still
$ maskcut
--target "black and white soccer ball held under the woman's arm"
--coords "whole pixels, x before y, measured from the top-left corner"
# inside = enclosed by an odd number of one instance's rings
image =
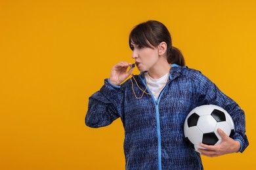
[[[221,107],[216,105],[202,105],[191,110],[184,122],[184,137],[194,150],[202,148],[200,143],[217,145],[221,143],[221,136],[217,129],[222,129],[228,136],[234,133],[234,122]]]

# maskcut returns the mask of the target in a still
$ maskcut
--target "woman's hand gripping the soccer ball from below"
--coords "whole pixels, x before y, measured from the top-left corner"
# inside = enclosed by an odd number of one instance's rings
[[[224,131],[221,129],[218,129],[217,132],[222,137],[221,143],[215,146],[201,143],[200,146],[205,149],[198,149],[198,151],[201,152],[202,155],[215,157],[224,154],[231,154],[240,150],[241,144],[239,141],[235,141],[234,139],[228,137],[228,135],[226,135],[226,133],[224,133]]]

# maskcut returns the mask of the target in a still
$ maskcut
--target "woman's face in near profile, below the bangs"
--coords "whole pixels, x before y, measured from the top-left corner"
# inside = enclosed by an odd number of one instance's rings
[[[131,58],[135,59],[139,71],[148,71],[158,62],[158,48],[146,47],[131,43],[133,55]]]

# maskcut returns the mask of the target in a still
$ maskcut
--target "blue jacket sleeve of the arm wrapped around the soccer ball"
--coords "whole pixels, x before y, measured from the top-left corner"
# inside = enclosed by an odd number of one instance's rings
[[[235,132],[232,139],[240,141],[241,147],[238,152],[244,152],[249,145],[245,135],[245,114],[239,105],[230,97],[226,96],[217,86],[201,73],[195,78],[196,92],[200,105],[217,105],[225,109],[233,119]]]

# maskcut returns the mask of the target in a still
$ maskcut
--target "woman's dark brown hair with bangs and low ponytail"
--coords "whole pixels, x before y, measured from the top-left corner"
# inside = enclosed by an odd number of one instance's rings
[[[149,48],[152,48],[152,46],[156,47],[161,42],[165,42],[167,44],[168,63],[185,66],[185,59],[181,51],[172,46],[171,35],[167,27],[161,24],[161,22],[149,20],[136,25],[129,35],[129,46],[133,50],[131,42]]]

